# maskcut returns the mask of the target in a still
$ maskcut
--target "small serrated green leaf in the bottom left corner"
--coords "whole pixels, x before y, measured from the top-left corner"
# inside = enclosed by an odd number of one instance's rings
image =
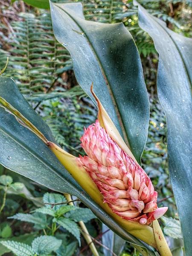
[[[5,247],[10,249],[13,253],[15,253],[17,256],[32,256],[34,255],[34,251],[32,250],[32,247],[28,244],[23,244],[15,241],[1,241],[1,244],[3,244]]]

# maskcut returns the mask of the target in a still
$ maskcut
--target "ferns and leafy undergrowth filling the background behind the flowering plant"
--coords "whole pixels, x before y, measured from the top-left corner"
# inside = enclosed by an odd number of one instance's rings
[[[139,2],[150,14],[166,21],[173,31],[191,36],[191,1]],[[9,0],[1,0],[0,4],[0,69],[9,56],[5,75],[15,80],[32,107],[47,122],[57,142],[70,153],[84,154],[79,137],[83,127],[95,121],[97,110],[76,82],[65,45],[54,38],[49,11],[22,1],[11,5]],[[158,191],[158,205],[169,204],[161,225],[169,244],[177,250],[183,243],[169,182],[166,119],[157,99],[158,55],[153,41],[139,28],[137,7],[131,1],[86,0],[82,4],[87,20],[123,22],[137,44],[151,111],[143,168]],[[77,201],[74,207],[64,204],[51,208],[44,203],[65,202],[64,195],[49,191],[3,166],[0,166],[0,175],[0,241],[3,241],[0,255],[12,255],[11,250],[21,255],[18,251],[26,250],[25,253],[29,253],[23,255],[89,256],[91,252],[80,236],[78,222],[81,220],[95,238],[99,255],[114,255],[102,239],[109,230],[104,234],[101,222],[81,202]],[[50,246],[42,247],[45,241]],[[122,256],[139,255],[130,244],[126,243],[122,249]]]

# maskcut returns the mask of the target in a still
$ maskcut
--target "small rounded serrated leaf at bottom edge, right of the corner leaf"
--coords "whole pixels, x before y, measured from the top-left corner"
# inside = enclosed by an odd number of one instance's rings
[[[38,255],[48,255],[52,251],[58,250],[62,240],[56,239],[54,236],[39,236],[32,241],[32,249]]]

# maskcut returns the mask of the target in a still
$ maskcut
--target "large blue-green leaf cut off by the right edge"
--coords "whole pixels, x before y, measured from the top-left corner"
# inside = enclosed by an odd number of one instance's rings
[[[139,5],[139,25],[159,52],[157,92],[166,114],[169,173],[186,255],[192,255],[192,39],[178,35]]]

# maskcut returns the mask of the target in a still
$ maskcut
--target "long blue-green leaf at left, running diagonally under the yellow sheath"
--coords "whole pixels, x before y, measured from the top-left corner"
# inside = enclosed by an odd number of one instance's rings
[[[48,140],[54,140],[48,126],[26,102],[12,79],[0,77],[0,96],[32,122]],[[0,163],[49,189],[75,195],[111,230],[126,241],[146,247],[151,256],[155,255],[151,247],[123,230],[98,207],[61,166],[52,151],[4,108],[0,108]]]

